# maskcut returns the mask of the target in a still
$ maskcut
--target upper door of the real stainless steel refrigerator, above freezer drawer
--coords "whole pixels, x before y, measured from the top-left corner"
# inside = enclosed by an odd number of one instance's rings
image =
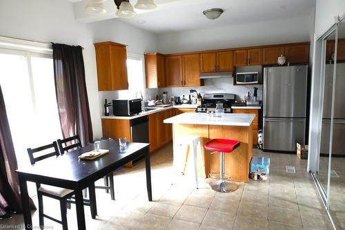
[[[307,66],[264,68],[264,117],[306,117]]]

